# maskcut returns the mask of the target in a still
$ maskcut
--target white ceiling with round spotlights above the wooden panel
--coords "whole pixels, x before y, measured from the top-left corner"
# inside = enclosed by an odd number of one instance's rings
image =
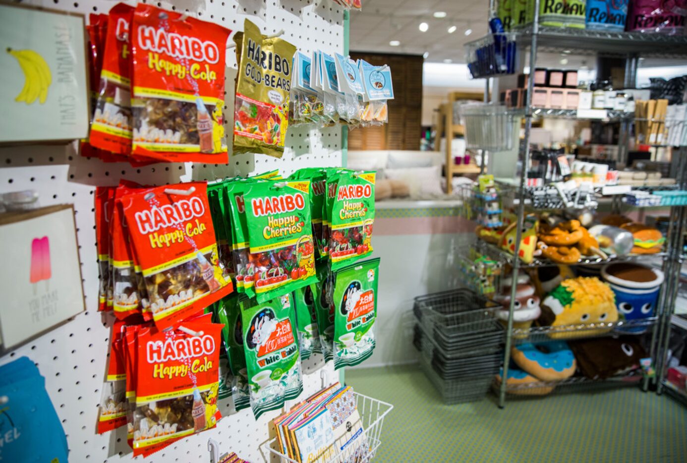
[[[363,9],[350,14],[350,50],[421,55],[427,62],[464,63],[463,44],[484,36],[487,31],[488,0],[363,0]],[[436,19],[433,13],[447,16]],[[429,30],[420,32],[420,23]],[[457,30],[447,32],[451,25]],[[472,29],[469,36],[465,31]],[[401,45],[392,47],[390,41]]]

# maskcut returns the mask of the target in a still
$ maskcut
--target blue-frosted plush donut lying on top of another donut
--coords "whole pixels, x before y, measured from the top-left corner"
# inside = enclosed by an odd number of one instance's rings
[[[540,381],[570,378],[577,367],[572,350],[563,341],[523,343],[510,349],[510,357],[519,368]]]

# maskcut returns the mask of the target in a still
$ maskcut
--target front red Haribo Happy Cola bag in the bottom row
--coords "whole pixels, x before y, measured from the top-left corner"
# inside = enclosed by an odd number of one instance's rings
[[[176,329],[142,328],[137,340],[133,453],[150,455],[215,427],[222,326],[184,321]]]

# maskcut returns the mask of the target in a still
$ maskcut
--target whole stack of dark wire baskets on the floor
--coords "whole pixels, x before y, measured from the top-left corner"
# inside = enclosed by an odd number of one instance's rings
[[[479,400],[502,361],[499,306],[469,289],[418,296],[414,344],[445,403]]]

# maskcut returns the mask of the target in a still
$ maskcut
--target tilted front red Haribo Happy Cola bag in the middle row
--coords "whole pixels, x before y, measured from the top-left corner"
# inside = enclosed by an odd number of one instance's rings
[[[121,201],[157,328],[232,292],[218,263],[205,182],[148,188]]]

